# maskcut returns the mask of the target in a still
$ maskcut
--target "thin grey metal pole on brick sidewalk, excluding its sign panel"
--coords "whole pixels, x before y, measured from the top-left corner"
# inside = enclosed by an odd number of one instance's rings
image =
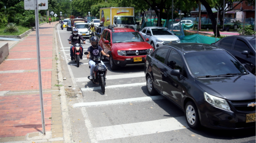
[[[41,60],[40,60],[40,43],[39,43],[39,18],[38,18],[38,4],[35,0],[35,19],[36,19],[36,51],[37,51],[37,67],[38,67],[38,82],[39,95],[42,119],[42,134],[45,135],[45,115],[44,115],[44,101],[42,97],[42,77],[41,77]]]

